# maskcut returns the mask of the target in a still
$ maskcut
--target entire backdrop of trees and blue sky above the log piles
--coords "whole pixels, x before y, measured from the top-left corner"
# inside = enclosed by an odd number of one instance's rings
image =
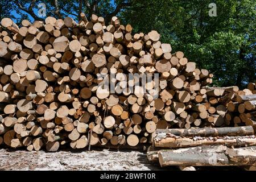
[[[46,15],[79,20],[81,12],[103,16],[108,23],[117,15],[130,23],[134,32],[156,30],[161,41],[172,45],[172,52],[183,51],[199,67],[214,73],[214,85],[238,85],[255,81],[256,2],[216,0],[217,16],[209,16],[209,0],[3,0],[0,18],[43,20],[39,3],[46,4]]]

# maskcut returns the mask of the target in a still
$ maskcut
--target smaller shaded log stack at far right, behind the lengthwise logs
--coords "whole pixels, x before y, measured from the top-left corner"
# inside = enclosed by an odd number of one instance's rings
[[[239,90],[237,86],[226,88],[205,87],[212,96],[209,98],[211,107],[219,114],[216,126],[253,126],[255,128],[256,94],[253,94],[253,85],[249,83],[248,88]],[[254,85],[253,85],[254,86]],[[208,105],[208,103],[205,103]],[[213,114],[214,115],[214,114]],[[208,117],[208,121],[210,121]]]

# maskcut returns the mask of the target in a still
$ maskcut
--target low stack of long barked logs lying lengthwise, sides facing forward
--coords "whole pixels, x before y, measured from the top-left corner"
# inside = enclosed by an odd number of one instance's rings
[[[156,130],[147,158],[164,166],[255,166],[252,126]]]

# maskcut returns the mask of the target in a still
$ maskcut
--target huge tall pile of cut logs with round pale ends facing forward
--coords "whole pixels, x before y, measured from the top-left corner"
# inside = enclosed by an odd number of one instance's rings
[[[213,75],[183,52],[172,53],[156,31],[132,34],[116,16],[110,24],[80,16],[78,23],[49,16],[20,27],[1,20],[0,144],[29,151],[136,147],[151,143],[156,129],[233,124],[227,105],[247,92],[207,87]],[[159,79],[127,80],[145,73]]]

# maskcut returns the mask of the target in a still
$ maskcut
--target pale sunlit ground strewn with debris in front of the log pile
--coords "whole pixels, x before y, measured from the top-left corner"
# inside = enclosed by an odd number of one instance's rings
[[[240,171],[240,167],[197,167],[199,171]],[[134,150],[108,150],[57,152],[0,149],[0,170],[179,170],[177,167],[160,168],[149,162],[146,152]]]

